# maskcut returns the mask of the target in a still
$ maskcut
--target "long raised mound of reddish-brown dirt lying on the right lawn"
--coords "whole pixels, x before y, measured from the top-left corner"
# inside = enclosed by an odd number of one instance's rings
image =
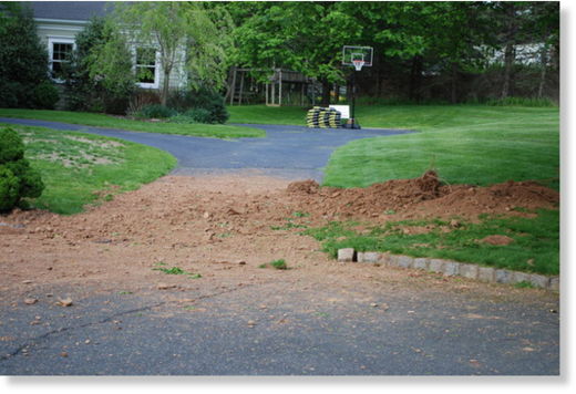
[[[323,216],[357,218],[421,218],[480,214],[524,215],[555,208],[559,194],[534,182],[506,182],[490,187],[443,185],[435,172],[413,179],[393,179],[367,188],[319,187],[313,182],[292,183],[287,193],[302,209]]]

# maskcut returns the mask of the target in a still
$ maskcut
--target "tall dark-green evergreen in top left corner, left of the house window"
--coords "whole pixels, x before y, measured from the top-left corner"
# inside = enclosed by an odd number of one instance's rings
[[[48,52],[22,4],[0,4],[0,107],[53,108],[59,97],[47,72]]]

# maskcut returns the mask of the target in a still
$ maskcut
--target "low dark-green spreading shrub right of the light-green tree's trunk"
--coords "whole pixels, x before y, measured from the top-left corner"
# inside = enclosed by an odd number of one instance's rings
[[[193,113],[197,118],[203,118],[202,122],[197,121],[199,123],[226,123],[230,116],[224,105],[224,97],[218,92],[206,87],[173,92],[167,105],[181,113],[200,108],[207,111],[209,116]]]

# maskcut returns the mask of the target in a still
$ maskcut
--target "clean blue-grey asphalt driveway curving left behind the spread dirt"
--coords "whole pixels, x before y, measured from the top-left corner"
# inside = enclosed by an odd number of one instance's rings
[[[322,178],[332,152],[350,141],[410,133],[398,129],[326,129],[284,125],[246,125],[266,131],[266,138],[218,139],[183,135],[127,132],[58,122],[0,117],[0,123],[89,132],[150,145],[178,159],[173,174],[199,175],[256,170],[288,179]]]

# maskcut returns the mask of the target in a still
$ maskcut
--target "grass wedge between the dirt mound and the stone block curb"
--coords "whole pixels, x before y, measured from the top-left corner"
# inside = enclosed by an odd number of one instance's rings
[[[479,224],[460,221],[457,228],[451,228],[449,221],[442,220],[407,220],[369,227],[369,234],[359,234],[354,229],[358,225],[333,221],[304,234],[321,241],[323,250],[332,257],[340,248],[354,248],[544,274],[559,273],[558,210],[539,210],[536,218],[484,216]],[[426,231],[407,231],[415,227],[426,228]],[[493,235],[510,237],[513,242],[495,246],[480,241]]]

